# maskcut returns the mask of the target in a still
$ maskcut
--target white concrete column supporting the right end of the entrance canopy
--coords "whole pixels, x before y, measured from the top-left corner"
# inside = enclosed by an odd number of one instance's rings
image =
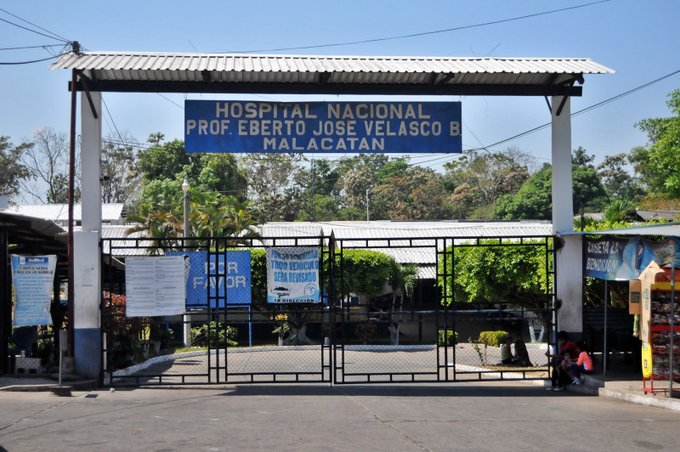
[[[568,233],[574,227],[571,177],[571,102],[567,98],[560,115],[561,96],[552,98],[552,208],[553,233]],[[558,328],[572,333],[583,329],[583,264],[580,236],[563,236],[557,251],[555,291],[562,301]]]

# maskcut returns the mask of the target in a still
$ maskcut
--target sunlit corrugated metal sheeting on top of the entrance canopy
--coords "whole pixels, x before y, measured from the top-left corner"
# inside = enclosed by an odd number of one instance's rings
[[[169,52],[65,53],[51,69],[174,72],[609,74],[589,58],[317,56]]]

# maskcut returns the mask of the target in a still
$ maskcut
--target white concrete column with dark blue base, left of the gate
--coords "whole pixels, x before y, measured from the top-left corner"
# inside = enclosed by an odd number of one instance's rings
[[[95,114],[81,93],[81,218],[73,236],[73,326],[76,373],[95,378],[101,370],[101,93],[90,93]]]

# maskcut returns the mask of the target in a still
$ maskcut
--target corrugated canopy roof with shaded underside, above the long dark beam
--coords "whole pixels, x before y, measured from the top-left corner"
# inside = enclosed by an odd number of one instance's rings
[[[102,81],[196,83],[557,86],[575,75],[614,71],[588,58],[399,57],[82,52],[51,69]],[[453,77],[449,77],[453,75]],[[439,77],[442,76],[442,77]]]

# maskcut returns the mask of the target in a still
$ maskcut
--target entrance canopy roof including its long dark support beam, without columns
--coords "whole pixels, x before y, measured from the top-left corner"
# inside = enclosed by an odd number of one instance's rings
[[[296,94],[572,95],[588,58],[313,56],[93,51],[62,54],[51,69],[87,77],[78,90]]]

